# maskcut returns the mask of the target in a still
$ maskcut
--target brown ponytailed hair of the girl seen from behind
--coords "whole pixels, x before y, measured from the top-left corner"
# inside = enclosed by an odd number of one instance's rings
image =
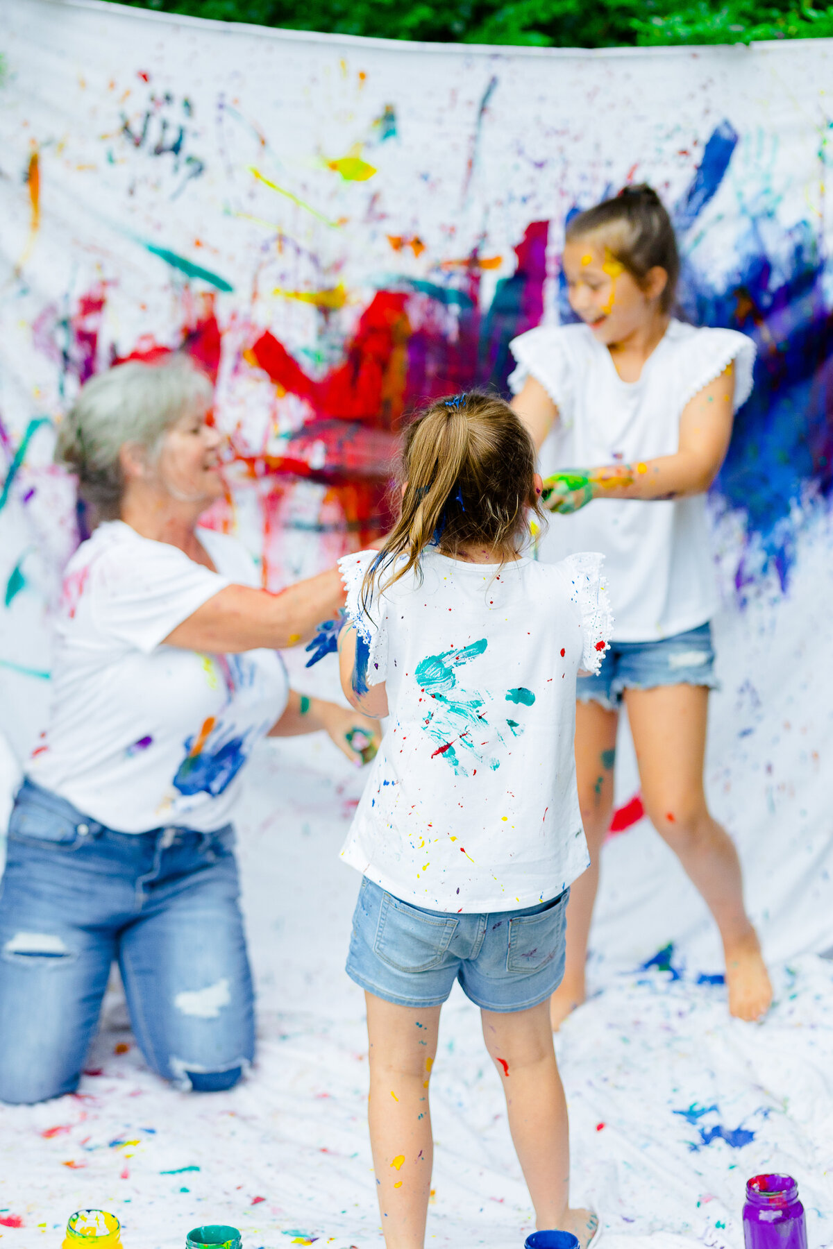
[[[457,558],[471,546],[513,560],[530,533],[528,512],[543,525],[536,491],[536,453],[526,426],[497,395],[465,391],[431,403],[405,432],[400,461],[400,518],[368,570],[373,578],[397,561],[387,586],[416,567],[436,543]]]

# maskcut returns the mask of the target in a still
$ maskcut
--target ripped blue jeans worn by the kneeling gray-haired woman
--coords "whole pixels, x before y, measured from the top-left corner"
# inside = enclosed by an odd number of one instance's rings
[[[240,1079],[255,1019],[231,824],[116,833],[25,781],[0,891],[0,1100],[75,1090],[114,959],[155,1072]]]

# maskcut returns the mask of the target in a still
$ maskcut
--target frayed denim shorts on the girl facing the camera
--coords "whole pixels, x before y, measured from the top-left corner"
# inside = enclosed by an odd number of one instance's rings
[[[611,642],[598,673],[576,682],[576,697],[579,702],[597,702],[616,711],[623,689],[656,689],[657,686],[719,688],[708,622],[657,642]]]

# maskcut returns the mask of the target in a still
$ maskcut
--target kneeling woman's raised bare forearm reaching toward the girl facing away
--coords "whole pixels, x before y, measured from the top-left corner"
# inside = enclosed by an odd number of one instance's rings
[[[298,581],[277,595],[250,586],[226,586],[171,629],[165,644],[212,654],[261,646],[277,651],[308,641],[316,626],[335,616],[343,602],[337,568]]]

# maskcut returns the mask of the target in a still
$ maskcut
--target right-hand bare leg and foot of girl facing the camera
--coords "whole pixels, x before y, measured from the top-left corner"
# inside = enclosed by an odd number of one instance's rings
[[[759,1019],[772,1002],[772,985],[743,906],[737,851],[709,814],[703,793],[708,689],[626,689],[624,701],[646,813],[679,858],[719,928],[729,1013],[739,1019]]]

